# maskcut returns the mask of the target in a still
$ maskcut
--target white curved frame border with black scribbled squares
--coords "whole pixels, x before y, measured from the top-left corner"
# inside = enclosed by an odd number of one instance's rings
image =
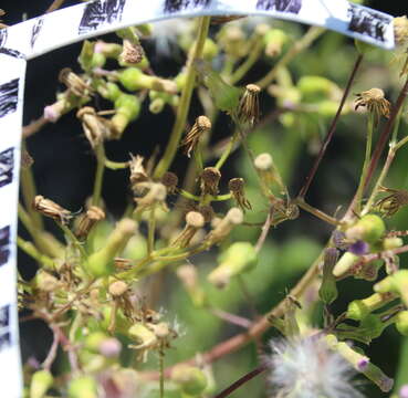
[[[17,312],[17,207],[25,60],[119,28],[203,14],[266,15],[394,48],[393,17],[345,0],[96,0],[0,30],[0,380],[22,397]]]

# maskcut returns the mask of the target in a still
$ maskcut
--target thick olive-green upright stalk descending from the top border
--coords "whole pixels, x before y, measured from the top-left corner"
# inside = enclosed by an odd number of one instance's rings
[[[192,91],[196,83],[197,74],[193,67],[193,61],[201,56],[203,44],[206,42],[208,29],[210,25],[210,19],[211,17],[200,18],[197,41],[193,51],[191,52],[191,55],[187,61],[186,85],[182,88],[180,103],[177,107],[176,122],[171,130],[170,140],[166,146],[165,154],[155,169],[154,178],[160,178],[168,170],[172,159],[176,156],[177,148],[179,147],[181,135],[186,126],[188,111],[190,108]]]

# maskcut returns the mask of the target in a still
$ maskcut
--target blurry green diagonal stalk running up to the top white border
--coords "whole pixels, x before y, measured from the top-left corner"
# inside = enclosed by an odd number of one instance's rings
[[[283,66],[287,65],[297,54],[306,50],[323,32],[323,28],[310,28],[308,31],[303,35],[303,38],[293,43],[292,48],[287,50],[287,52],[278,61],[275,66],[255,84],[261,88],[264,88],[269,84],[271,84],[276,77],[279,71]]]

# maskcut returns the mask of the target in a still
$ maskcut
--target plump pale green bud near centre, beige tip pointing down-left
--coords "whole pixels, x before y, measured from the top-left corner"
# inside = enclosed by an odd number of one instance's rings
[[[249,242],[231,244],[219,258],[220,264],[208,275],[217,287],[224,287],[232,276],[251,270],[258,262],[258,254]]]

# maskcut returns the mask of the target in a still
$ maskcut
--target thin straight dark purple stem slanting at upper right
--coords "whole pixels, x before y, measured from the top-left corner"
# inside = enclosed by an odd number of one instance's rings
[[[328,127],[326,137],[324,138],[324,142],[323,142],[323,144],[321,146],[321,149],[320,149],[320,151],[317,154],[317,158],[314,161],[314,165],[313,165],[312,169],[310,170],[310,172],[308,172],[308,175],[306,177],[306,180],[304,182],[304,186],[302,187],[302,189],[300,190],[300,192],[297,195],[300,198],[304,198],[306,196],[306,192],[307,192],[307,190],[308,190],[308,188],[310,188],[310,186],[311,186],[311,184],[313,181],[313,178],[316,175],[316,171],[318,169],[318,166],[320,166],[320,164],[321,164],[321,161],[322,161],[322,159],[323,159],[323,157],[324,157],[324,155],[326,153],[327,146],[328,146],[328,144],[331,143],[331,140],[333,138],[334,132],[336,130],[337,122],[338,122],[339,116],[342,114],[344,104],[346,103],[346,98],[347,98],[348,93],[351,91],[351,87],[352,87],[352,84],[354,82],[354,78],[356,77],[357,71],[358,71],[358,69],[359,69],[359,66],[362,64],[362,61],[363,61],[363,54],[359,54],[358,57],[357,57],[357,60],[356,60],[356,62],[355,62],[355,64],[354,64],[352,74],[348,77],[348,82],[347,82],[346,88],[345,88],[345,91],[343,93],[343,97],[342,97],[342,101],[341,101],[341,103],[338,105],[338,109],[336,112],[336,115],[334,116],[334,118],[332,121],[332,124]]]

